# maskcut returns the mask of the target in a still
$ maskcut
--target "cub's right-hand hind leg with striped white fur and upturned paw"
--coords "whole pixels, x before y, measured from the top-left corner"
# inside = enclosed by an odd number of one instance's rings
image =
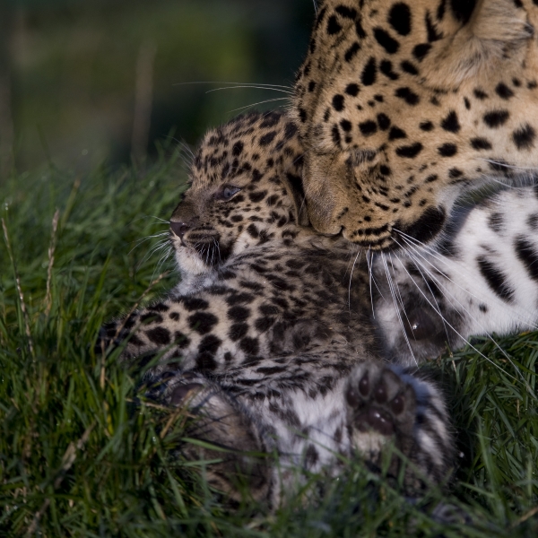
[[[447,481],[454,439],[443,396],[429,379],[367,362],[352,370],[344,395],[351,448],[367,462],[380,468],[385,447],[392,444],[404,458],[395,451],[388,475],[403,472],[408,493]]]

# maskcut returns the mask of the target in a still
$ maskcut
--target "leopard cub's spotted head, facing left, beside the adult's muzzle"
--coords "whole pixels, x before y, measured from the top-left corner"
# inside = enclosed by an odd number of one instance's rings
[[[170,219],[179,270],[206,273],[306,223],[297,128],[281,112],[253,113],[209,131],[191,186]]]

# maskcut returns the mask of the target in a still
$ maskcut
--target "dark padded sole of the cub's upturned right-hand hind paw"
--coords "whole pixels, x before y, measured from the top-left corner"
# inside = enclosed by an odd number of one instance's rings
[[[392,369],[371,365],[351,377],[345,392],[351,425],[384,436],[412,429],[416,396]]]

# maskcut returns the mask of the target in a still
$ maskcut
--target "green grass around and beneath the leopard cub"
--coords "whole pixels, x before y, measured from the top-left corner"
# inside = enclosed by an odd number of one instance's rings
[[[185,179],[162,157],[144,175],[51,166],[0,187],[10,244],[0,230],[0,534],[537,535],[538,334],[499,340],[515,366],[487,341],[475,343],[484,356],[438,360],[464,457],[450,493],[420,506],[353,461],[275,513],[247,497],[230,509],[204,482],[204,462],[172,456],[182,417],[134,406],[136,372],[92,350],[103,320],[175,282],[171,273],[146,292],[167,267],[147,256],[156,239],[136,243],[166,230],[152,216],[169,217]],[[473,525],[437,524],[428,507],[440,499]]]

